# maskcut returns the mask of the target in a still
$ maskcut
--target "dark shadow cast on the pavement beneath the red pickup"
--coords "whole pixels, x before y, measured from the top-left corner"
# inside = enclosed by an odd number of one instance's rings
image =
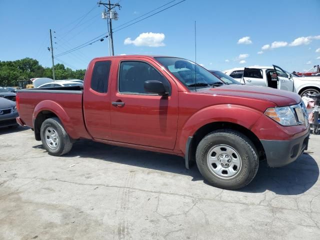
[[[33,146],[42,148],[42,145]],[[184,166],[184,158],[157,152],[107,145],[90,140],[79,140],[64,157],[88,157],[109,162],[117,162],[143,168],[172,172],[192,176],[192,181],[203,181],[196,165],[190,169]],[[309,154],[302,154],[296,161],[280,168],[270,168],[266,161],[259,164],[259,169],[246,187],[235,191],[264,192],[296,195],[308,190],[318,179],[319,167]],[[207,184],[204,181],[205,184]]]

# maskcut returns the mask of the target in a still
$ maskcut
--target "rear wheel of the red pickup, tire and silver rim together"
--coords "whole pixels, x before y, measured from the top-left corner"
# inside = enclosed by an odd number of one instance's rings
[[[64,130],[59,118],[52,117],[42,122],[41,141],[50,155],[60,156],[71,150],[72,141]]]

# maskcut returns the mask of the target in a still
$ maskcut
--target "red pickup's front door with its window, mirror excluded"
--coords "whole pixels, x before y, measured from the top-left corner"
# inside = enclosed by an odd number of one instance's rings
[[[125,92],[118,92],[115,86],[116,90],[111,95],[112,102],[121,102],[121,105],[111,105],[112,140],[173,149],[178,116],[176,86],[160,73],[161,69],[146,62],[132,62],[138,61],[122,61],[119,66],[119,88]],[[132,69],[127,67],[130,64]],[[144,88],[141,84],[145,80],[160,80],[157,74],[164,77],[164,85],[170,88],[169,96],[142,92]]]

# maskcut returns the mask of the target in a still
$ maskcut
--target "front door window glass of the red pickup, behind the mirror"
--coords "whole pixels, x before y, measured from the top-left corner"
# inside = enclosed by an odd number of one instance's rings
[[[170,92],[170,83],[154,67],[142,61],[122,61],[119,74],[119,92],[149,94],[144,81],[158,80]]]

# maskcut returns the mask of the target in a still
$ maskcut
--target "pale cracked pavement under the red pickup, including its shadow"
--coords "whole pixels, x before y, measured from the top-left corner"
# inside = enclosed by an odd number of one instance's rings
[[[88,140],[54,157],[0,129],[0,239],[320,239],[319,142],[222,190],[182,157]]]

